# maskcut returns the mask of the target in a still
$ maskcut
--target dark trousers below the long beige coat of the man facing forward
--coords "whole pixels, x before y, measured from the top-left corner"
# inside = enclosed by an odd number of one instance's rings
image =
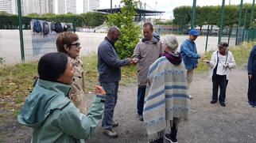
[[[138,88],[137,110],[139,115],[142,115],[142,112],[143,112],[144,98],[145,98],[145,88]]]

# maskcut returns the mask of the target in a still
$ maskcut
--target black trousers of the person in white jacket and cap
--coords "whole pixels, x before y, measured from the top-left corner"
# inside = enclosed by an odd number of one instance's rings
[[[226,75],[216,75],[211,78],[212,80],[212,100],[218,100],[219,91],[219,102],[225,102],[226,99],[226,89],[227,89],[227,76]]]

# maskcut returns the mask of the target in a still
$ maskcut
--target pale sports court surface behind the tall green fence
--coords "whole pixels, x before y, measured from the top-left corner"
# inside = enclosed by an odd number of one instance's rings
[[[76,32],[80,36],[80,43],[82,46],[81,55],[87,55],[93,51],[97,51],[99,43],[104,39],[107,35],[106,33],[94,33],[94,32]],[[24,48],[25,48],[25,55],[33,55],[33,49],[31,42],[32,34],[29,30],[23,31],[23,39],[24,39]],[[162,36],[161,36],[162,37]],[[188,36],[176,36],[179,43],[181,44],[184,40],[188,38]],[[205,45],[206,45],[206,36],[199,36],[196,40],[197,51],[199,53],[204,53]],[[227,41],[227,38],[223,38],[223,41]],[[208,47],[207,50],[215,50],[216,45],[218,43],[218,37],[211,37],[208,38]],[[235,40],[231,40],[231,45],[235,45]],[[53,51],[55,49],[55,43],[52,42],[51,44],[46,45],[45,47],[53,47]],[[45,50],[47,51],[47,50]],[[44,50],[41,53],[45,52]],[[51,50],[52,51],[52,50]],[[25,56],[25,61],[29,60],[30,58],[39,59],[39,56]],[[20,46],[20,36],[18,30],[0,30],[0,57],[5,58],[6,63],[14,63],[14,62],[21,62],[21,46]]]

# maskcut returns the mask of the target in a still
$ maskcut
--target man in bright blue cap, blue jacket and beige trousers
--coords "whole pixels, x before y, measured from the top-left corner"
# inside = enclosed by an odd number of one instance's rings
[[[197,54],[195,40],[200,34],[195,29],[191,30],[188,34],[188,40],[185,40],[180,46],[180,55],[182,55],[187,71],[189,90],[189,86],[193,81],[194,69],[196,69],[198,65],[198,58],[205,58],[207,56]],[[189,98],[192,98],[192,96],[188,96]]]

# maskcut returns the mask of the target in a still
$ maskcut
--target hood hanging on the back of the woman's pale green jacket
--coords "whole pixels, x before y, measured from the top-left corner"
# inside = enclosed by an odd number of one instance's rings
[[[33,92],[21,107],[17,116],[18,122],[26,126],[39,128],[53,110],[62,109],[70,103],[70,100],[66,97],[70,88],[72,88],[72,85],[38,79]]]

